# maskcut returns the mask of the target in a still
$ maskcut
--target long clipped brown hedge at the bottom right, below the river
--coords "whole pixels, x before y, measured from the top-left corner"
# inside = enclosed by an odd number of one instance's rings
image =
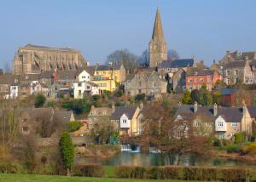
[[[203,181],[250,181],[255,170],[215,167],[134,167],[121,166],[115,170],[117,178],[127,179],[184,179]],[[255,180],[255,179],[254,179]]]

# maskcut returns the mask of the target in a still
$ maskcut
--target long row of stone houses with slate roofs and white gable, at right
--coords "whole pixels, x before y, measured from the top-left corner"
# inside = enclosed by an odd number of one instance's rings
[[[215,135],[219,139],[233,139],[234,134],[245,132],[250,137],[253,132],[253,109],[242,107],[219,107],[197,105],[178,105],[176,120],[186,118],[193,122],[195,134]],[[189,121],[189,117],[194,118]]]

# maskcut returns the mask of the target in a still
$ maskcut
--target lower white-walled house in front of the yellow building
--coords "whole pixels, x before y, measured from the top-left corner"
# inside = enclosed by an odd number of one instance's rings
[[[74,82],[73,97],[74,99],[83,99],[85,95],[99,94],[98,85],[94,82]]]

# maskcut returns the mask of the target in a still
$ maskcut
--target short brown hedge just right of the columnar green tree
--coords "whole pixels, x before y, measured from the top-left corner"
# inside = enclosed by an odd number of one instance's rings
[[[100,164],[89,165],[75,165],[73,168],[74,176],[87,176],[87,177],[103,177],[104,171]]]

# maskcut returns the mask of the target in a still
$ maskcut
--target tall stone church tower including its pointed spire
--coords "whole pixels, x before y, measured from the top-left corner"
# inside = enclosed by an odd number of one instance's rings
[[[149,60],[150,67],[156,67],[163,60],[167,60],[167,44],[164,37],[159,9],[156,10],[154,30],[152,39],[149,42]]]

